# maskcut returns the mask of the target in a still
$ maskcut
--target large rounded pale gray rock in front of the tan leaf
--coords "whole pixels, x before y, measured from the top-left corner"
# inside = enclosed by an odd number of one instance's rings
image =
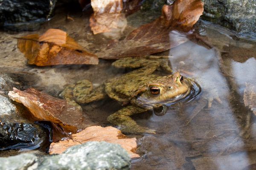
[[[40,170],[128,170],[130,156],[119,144],[87,142],[45,157]]]

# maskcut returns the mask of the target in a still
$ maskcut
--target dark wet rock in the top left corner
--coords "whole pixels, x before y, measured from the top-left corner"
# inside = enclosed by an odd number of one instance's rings
[[[52,17],[57,0],[0,0],[0,26],[6,30],[32,31]]]

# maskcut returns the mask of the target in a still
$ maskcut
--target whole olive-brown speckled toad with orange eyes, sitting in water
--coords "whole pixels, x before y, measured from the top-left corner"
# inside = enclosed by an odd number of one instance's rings
[[[118,126],[124,133],[155,133],[155,130],[141,127],[130,116],[160,107],[169,102],[177,102],[189,94],[189,80],[178,72],[172,75],[159,76],[152,74],[157,68],[172,71],[166,60],[124,58],[112,64],[118,68],[139,68],[121,77],[107,80],[93,89],[88,80],[81,80],[76,85],[69,85],[62,92],[70,103],[89,103],[109,96],[126,107],[108,116],[111,124]],[[142,68],[140,68],[142,67]]]

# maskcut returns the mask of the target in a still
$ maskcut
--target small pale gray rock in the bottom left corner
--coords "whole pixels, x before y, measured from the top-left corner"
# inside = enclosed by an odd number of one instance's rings
[[[0,170],[35,170],[37,160],[37,157],[31,153],[0,158]]]

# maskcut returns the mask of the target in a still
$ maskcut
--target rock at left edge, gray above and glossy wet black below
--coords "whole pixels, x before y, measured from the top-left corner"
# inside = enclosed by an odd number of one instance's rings
[[[19,87],[8,74],[0,74],[0,150],[35,149],[46,139],[44,128],[26,119],[27,110],[7,96],[12,87]]]

